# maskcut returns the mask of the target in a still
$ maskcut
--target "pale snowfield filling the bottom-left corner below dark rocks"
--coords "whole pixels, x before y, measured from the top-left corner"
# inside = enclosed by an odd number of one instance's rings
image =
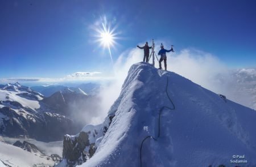
[[[44,166],[52,166],[54,164],[51,159],[47,160],[46,157],[36,156],[34,153],[24,151],[23,149],[15,147],[11,144],[0,142],[0,149],[0,160],[13,167],[32,167],[34,164],[45,164]]]

